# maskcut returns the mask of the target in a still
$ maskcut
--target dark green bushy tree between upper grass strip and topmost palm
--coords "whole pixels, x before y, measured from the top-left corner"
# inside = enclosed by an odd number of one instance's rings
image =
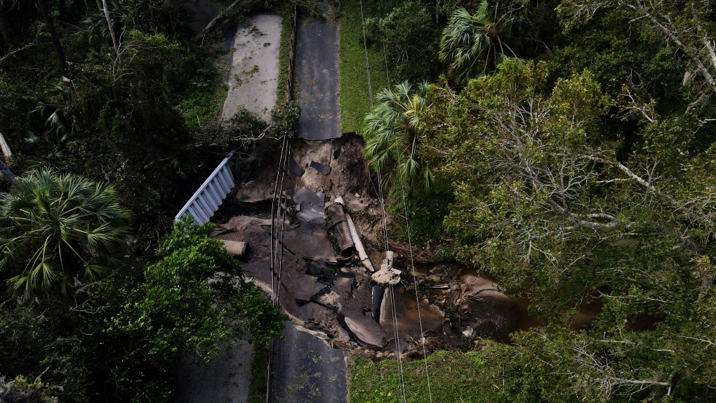
[[[425,4],[405,1],[382,18],[367,19],[365,24],[371,46],[385,52],[394,82],[437,77],[439,31]],[[379,67],[383,66],[374,69]]]

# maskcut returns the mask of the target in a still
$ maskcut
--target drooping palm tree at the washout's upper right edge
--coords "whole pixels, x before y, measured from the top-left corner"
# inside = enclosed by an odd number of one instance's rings
[[[429,85],[425,82],[411,94],[410,84],[397,84],[395,90],[382,90],[372,112],[365,117],[364,155],[375,171],[396,167],[398,180],[409,186],[420,183],[430,190],[434,178],[427,165],[417,158],[419,112],[425,108]]]

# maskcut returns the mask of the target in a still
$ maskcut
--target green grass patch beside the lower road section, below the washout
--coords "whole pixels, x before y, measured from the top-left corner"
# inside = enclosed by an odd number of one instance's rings
[[[482,353],[438,351],[427,357],[432,402],[495,402],[501,385],[498,372]],[[400,388],[395,360],[374,363],[351,356],[348,362],[349,394],[352,403],[397,403]],[[425,377],[425,361],[403,361],[405,400],[408,403],[430,402]],[[499,389],[499,386],[498,386]]]

